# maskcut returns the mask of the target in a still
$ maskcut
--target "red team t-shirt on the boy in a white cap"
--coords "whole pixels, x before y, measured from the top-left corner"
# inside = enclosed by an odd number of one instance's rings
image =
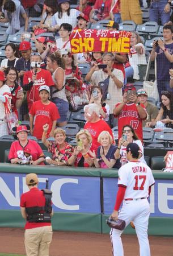
[[[50,102],[48,105],[43,104],[41,101],[33,102],[29,114],[35,115],[35,125],[33,129],[33,136],[37,139],[41,139],[43,134],[43,125],[48,123],[49,130],[47,137],[52,130],[53,121],[60,118],[57,106]]]

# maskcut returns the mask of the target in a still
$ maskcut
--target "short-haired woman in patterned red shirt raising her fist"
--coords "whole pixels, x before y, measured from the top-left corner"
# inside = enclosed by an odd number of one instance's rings
[[[65,142],[66,134],[61,128],[54,130],[54,141],[47,140],[47,131],[49,125],[46,123],[43,126],[43,135],[41,141],[52,153],[52,159],[46,159],[47,163],[54,164],[55,166],[67,166],[69,158],[73,154],[73,147]]]

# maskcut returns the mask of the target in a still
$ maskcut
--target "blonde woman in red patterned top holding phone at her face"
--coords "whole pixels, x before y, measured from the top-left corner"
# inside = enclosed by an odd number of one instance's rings
[[[91,167],[93,164],[92,151],[94,147],[92,145],[91,134],[87,130],[81,130],[76,135],[77,146],[74,148],[73,155],[69,159],[69,164],[71,166],[78,167]]]

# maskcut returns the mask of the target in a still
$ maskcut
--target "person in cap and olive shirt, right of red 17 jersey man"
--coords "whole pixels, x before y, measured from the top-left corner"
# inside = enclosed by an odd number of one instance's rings
[[[149,127],[150,122],[154,122],[155,118],[157,118],[158,115],[158,108],[154,104],[151,104],[147,101],[147,92],[144,89],[138,89],[137,90],[137,99],[138,102],[143,104],[145,106],[147,117],[145,120],[142,121],[143,127]]]

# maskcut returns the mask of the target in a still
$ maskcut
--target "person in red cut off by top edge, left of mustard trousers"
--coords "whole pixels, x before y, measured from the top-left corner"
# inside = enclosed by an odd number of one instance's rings
[[[98,20],[111,19],[112,0],[96,0],[90,12],[90,22],[96,23]]]

